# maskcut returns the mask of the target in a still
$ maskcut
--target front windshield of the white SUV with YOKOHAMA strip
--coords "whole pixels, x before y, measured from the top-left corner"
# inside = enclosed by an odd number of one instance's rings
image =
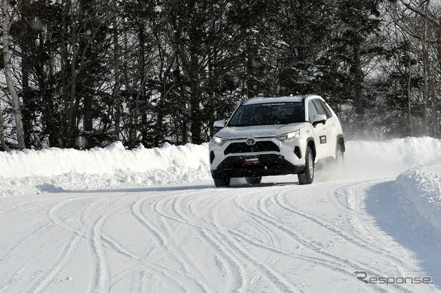
[[[227,126],[245,127],[304,122],[302,102],[268,102],[241,105],[234,112]]]

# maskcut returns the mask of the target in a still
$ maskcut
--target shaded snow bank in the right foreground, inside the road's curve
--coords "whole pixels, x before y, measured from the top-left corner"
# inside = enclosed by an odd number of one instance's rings
[[[418,166],[396,181],[404,215],[413,215],[415,230],[441,239],[441,164]],[[438,245],[440,243],[438,242]]]

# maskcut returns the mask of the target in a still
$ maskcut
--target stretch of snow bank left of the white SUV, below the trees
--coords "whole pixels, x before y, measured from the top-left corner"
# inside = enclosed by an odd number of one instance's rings
[[[0,153],[0,195],[179,184],[211,180],[208,145],[186,144],[127,151],[43,149]]]

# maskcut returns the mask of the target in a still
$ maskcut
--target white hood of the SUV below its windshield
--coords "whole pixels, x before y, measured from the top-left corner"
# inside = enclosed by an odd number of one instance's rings
[[[240,138],[268,138],[283,135],[305,127],[305,123],[292,123],[283,125],[258,125],[247,127],[224,127],[216,136],[227,139]]]

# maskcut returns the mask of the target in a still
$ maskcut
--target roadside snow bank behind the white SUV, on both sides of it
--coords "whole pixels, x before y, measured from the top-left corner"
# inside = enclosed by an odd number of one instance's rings
[[[404,138],[347,142],[345,173],[319,171],[316,180],[396,177],[421,164],[441,163],[441,140]],[[342,177],[343,176],[343,177]],[[295,179],[294,179],[295,180]],[[158,184],[210,182],[208,144],[127,151],[121,142],[105,149],[43,149],[0,152],[0,196]]]

